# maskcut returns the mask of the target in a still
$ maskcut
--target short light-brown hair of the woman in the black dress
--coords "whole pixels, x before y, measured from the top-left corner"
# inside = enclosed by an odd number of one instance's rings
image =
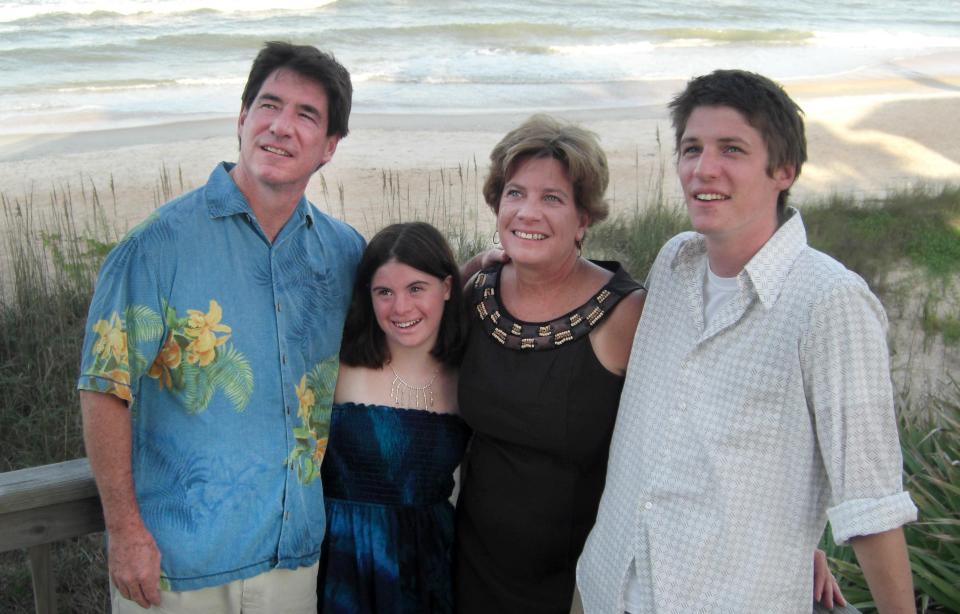
[[[532,158],[553,158],[563,164],[573,185],[574,202],[589,216],[591,225],[607,218],[610,205],[603,195],[610,183],[610,169],[597,135],[542,114],[511,130],[490,152],[483,197],[494,213],[500,211],[504,185],[522,162]]]

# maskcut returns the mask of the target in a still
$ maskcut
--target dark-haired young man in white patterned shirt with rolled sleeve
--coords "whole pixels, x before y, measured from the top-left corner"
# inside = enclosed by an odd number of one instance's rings
[[[649,273],[585,611],[809,612],[829,518],[880,611],[912,612],[886,317],[786,206],[800,109],[743,71],[692,80],[670,109],[695,232]]]

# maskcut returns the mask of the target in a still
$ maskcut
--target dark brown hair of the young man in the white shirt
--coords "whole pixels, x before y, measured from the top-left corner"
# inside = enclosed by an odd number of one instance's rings
[[[783,88],[756,73],[745,70],[716,70],[692,79],[670,102],[670,119],[676,134],[677,153],[687,129],[687,120],[697,107],[730,107],[743,115],[767,144],[767,174],[785,165],[800,176],[807,160],[807,138],[803,110]],[[777,197],[777,215],[783,219],[790,190]]]

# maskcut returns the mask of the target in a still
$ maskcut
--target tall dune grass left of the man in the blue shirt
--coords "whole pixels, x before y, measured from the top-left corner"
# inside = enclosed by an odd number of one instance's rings
[[[68,188],[51,191],[51,214],[0,196],[0,471],[84,456],[77,367],[100,262],[117,233],[99,194],[81,191],[90,224],[78,226]],[[4,232],[5,231],[5,232]],[[61,612],[108,610],[103,536],[56,544]],[[0,612],[33,611],[25,552],[0,553]]]

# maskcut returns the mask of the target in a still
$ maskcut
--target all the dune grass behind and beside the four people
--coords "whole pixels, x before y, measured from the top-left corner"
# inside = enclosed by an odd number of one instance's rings
[[[414,188],[394,171],[383,171],[381,178],[384,206],[378,219],[364,220],[368,236],[390,222],[420,219],[445,233],[461,261],[489,245],[492,213],[479,196],[475,160],[432,173],[426,186]],[[621,203],[618,214],[590,229],[585,255],[620,260],[643,280],[660,246],[688,227],[686,213],[665,200],[662,186],[661,166],[645,186],[646,202]],[[343,186],[335,195],[321,187],[327,209],[343,216]],[[183,189],[180,173],[161,169],[155,204]],[[38,218],[31,213],[34,196],[0,194],[0,471],[84,455],[75,382],[96,271],[121,234],[111,221],[116,217],[111,196],[112,189],[103,202],[83,182],[79,190],[58,186],[48,195],[49,215]],[[894,291],[889,274],[905,264],[919,267],[930,287],[956,283],[960,188],[915,190],[871,202],[834,197],[810,205],[801,203],[811,243],[856,270],[881,295]],[[88,221],[79,223],[78,211]],[[935,307],[924,327],[945,340],[960,338],[956,314]],[[960,386],[956,398],[930,403],[935,407],[919,414],[898,408],[905,483],[921,508],[921,522],[910,525],[907,536],[921,611],[960,611]],[[870,611],[851,550],[825,545],[847,595]],[[102,537],[61,543],[55,560],[61,611],[105,611]],[[0,554],[0,611],[32,609],[25,561],[23,552]]]

